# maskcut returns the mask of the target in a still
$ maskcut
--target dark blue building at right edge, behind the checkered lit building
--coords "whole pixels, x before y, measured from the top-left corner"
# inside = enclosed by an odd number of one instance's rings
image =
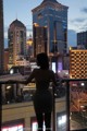
[[[84,46],[87,49],[87,31],[77,33],[77,46]]]

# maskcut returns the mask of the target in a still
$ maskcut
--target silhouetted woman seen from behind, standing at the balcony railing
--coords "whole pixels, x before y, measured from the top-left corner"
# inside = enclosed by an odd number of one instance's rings
[[[38,131],[42,131],[45,120],[46,131],[51,130],[51,111],[52,111],[52,94],[49,91],[49,83],[55,82],[53,71],[49,70],[49,59],[45,52],[37,55],[37,66],[39,69],[34,69],[29,78],[23,82],[27,84],[35,79],[36,92],[34,94],[34,108],[38,122]]]

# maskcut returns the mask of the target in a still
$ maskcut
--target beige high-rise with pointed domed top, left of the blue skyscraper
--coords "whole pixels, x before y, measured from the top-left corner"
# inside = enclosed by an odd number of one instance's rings
[[[15,20],[9,27],[9,64],[15,64],[20,55],[26,55],[26,27]]]

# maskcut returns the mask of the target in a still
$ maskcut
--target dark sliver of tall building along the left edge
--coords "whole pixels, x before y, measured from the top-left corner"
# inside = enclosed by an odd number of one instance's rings
[[[3,1],[0,0],[0,74],[3,73],[3,56],[4,56],[4,40],[3,40]]]

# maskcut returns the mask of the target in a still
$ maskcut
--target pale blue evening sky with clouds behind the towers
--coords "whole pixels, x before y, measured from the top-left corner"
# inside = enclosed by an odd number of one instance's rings
[[[32,10],[38,7],[42,1],[44,0],[18,0],[18,1],[4,0],[3,1],[4,37],[5,38],[8,37],[7,34],[8,27],[15,19],[18,19],[20,21],[23,22],[23,24],[25,24],[25,26],[27,27],[27,33],[32,32],[32,24],[33,24]],[[87,16],[86,16],[87,0],[84,1],[57,0],[57,1],[69,7],[69,13],[67,13],[69,29],[73,31],[73,33],[83,32],[87,29]]]

